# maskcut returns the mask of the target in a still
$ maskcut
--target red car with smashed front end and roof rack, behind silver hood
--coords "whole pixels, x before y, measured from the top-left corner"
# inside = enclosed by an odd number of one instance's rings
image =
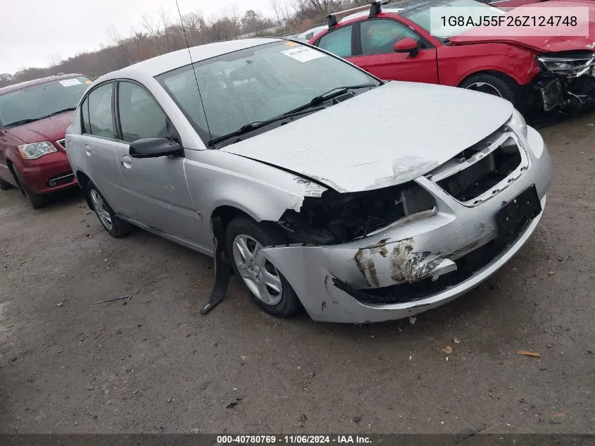
[[[477,32],[461,32],[460,27],[446,28],[444,37],[436,37],[429,31],[434,6],[474,6],[473,11],[496,15],[515,9],[504,12],[475,0],[404,0],[382,9],[380,4],[336,24],[330,16],[329,29],[309,43],[384,80],[475,89],[508,99],[521,111],[595,104],[593,1],[552,0],[523,7],[587,7],[588,37],[475,37]]]

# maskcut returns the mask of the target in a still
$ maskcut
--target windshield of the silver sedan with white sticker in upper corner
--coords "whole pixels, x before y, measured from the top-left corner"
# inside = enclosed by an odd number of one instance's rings
[[[280,116],[335,87],[380,85],[358,68],[296,42],[235,51],[195,63],[194,67],[196,79],[192,66],[156,78],[205,141]]]

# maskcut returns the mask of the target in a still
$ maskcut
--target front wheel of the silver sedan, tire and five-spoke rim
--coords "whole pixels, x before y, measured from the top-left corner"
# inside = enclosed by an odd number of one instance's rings
[[[292,285],[270,261],[256,259],[262,247],[282,243],[280,233],[249,218],[234,218],[225,230],[227,258],[252,300],[268,314],[289,318],[303,309]]]

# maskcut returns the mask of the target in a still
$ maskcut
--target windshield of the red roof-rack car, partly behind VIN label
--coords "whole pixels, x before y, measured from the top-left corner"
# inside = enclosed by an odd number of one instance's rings
[[[408,18],[413,23],[417,23],[420,27],[422,27],[427,32],[430,32],[431,35],[437,37],[438,39],[449,39],[449,37],[453,37],[456,35],[461,34],[471,28],[475,27],[473,25],[467,26],[450,26],[446,23],[446,26],[441,26],[436,29],[432,29],[432,25],[430,23],[430,11],[432,8],[444,8],[444,7],[453,7],[453,8],[468,8],[468,11],[465,11],[465,19],[469,17],[472,18],[472,22],[480,23],[481,18],[485,16],[503,16],[506,14],[506,11],[503,11],[500,8],[495,8],[494,6],[489,6],[487,4],[481,3],[480,1],[475,0],[444,0],[444,1],[434,1],[432,4],[426,4],[424,6],[420,6],[419,8],[411,9],[410,11],[404,11],[401,13],[401,16]]]

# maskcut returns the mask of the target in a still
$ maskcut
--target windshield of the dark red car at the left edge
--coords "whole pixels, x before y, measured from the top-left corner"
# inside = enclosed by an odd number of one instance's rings
[[[91,80],[84,76],[52,80],[0,95],[0,123],[5,128],[75,109]]]

